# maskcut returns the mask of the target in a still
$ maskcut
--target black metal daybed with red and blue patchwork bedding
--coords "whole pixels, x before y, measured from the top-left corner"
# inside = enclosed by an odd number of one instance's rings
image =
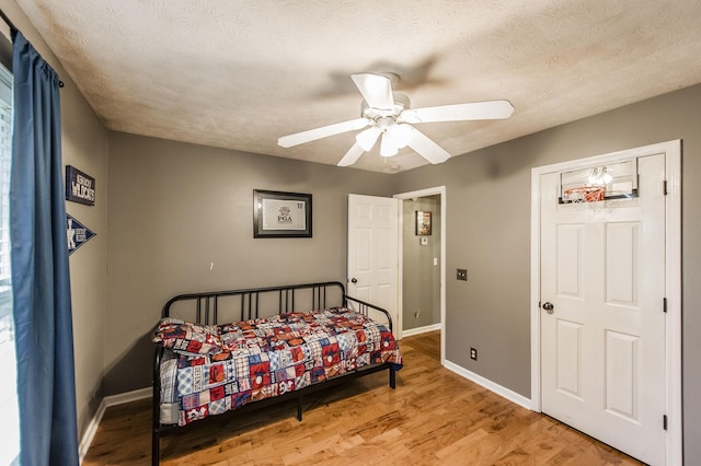
[[[402,366],[390,314],[336,281],[181,294],[153,341],[154,465],[177,427],[289,398],[301,421],[302,395]]]

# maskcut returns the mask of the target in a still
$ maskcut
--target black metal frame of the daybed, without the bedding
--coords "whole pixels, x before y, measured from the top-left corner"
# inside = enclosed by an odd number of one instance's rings
[[[240,321],[258,318],[258,316],[261,315],[261,312],[264,313],[264,316],[267,316],[273,311],[269,308],[266,308],[263,311],[261,310],[262,296],[272,295],[275,293],[278,294],[277,296],[278,314],[284,314],[284,313],[295,312],[295,311],[314,311],[314,310],[327,308],[331,305],[334,305],[334,304],[326,303],[327,298],[330,300],[334,298],[332,295],[333,292],[329,292],[330,290],[333,290],[333,289],[336,289],[335,295],[338,295],[338,299],[340,299],[340,302],[335,305],[352,307],[354,311],[361,313],[365,316],[369,316],[368,314],[370,310],[377,311],[387,317],[389,329],[390,331],[392,331],[392,317],[390,316],[389,312],[387,312],[382,307],[378,307],[374,304],[346,295],[345,287],[340,281],[325,281],[325,282],[318,282],[318,283],[302,283],[302,284],[290,284],[290,286],[280,286],[280,287],[251,288],[251,289],[243,289],[243,290],[227,290],[227,291],[214,291],[214,292],[204,292],[204,293],[180,294],[177,296],[170,299],[163,305],[161,317],[163,318],[169,317],[171,315],[171,307],[175,303],[194,302],[193,303],[195,307],[194,322],[199,324],[205,324],[205,325],[215,325],[215,324],[218,324],[217,319],[220,315],[220,301],[221,301],[220,298],[240,296],[240,301],[237,300],[239,301],[239,303],[235,310],[239,312]],[[306,293],[304,296],[307,298],[307,300],[304,301],[304,303],[311,302],[311,306],[312,306],[311,308],[296,310],[295,301],[296,301],[296,296],[299,293]],[[161,436],[166,435],[168,433],[175,432],[176,429],[179,428],[177,424],[162,424],[160,421],[161,360],[163,358],[163,352],[164,352],[164,348],[162,346],[158,346],[156,348],[156,352],[153,356],[153,401],[152,401],[153,419],[152,419],[152,435],[151,435],[151,464],[152,465],[160,464]],[[285,401],[290,398],[296,398],[297,399],[297,419],[301,421],[302,420],[302,395],[311,394],[313,392],[318,392],[320,389],[324,389],[333,385],[337,385],[350,378],[374,374],[376,372],[380,372],[384,370],[389,370],[390,387],[395,388],[397,374],[392,364],[391,363],[375,364],[375,365],[357,369],[344,375],[329,378],[324,382],[307,386],[299,391],[288,392],[279,396],[250,403],[244,405],[241,408],[237,408],[235,410],[232,410],[225,415],[219,415],[219,416],[228,416],[231,413],[241,412],[243,410],[258,409],[268,405]],[[217,418],[219,416],[217,416]]]

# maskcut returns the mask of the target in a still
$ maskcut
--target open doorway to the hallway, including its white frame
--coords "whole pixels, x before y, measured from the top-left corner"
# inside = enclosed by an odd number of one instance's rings
[[[445,186],[403,193],[399,254],[401,336],[441,330],[445,323]],[[440,339],[440,361],[445,341]]]

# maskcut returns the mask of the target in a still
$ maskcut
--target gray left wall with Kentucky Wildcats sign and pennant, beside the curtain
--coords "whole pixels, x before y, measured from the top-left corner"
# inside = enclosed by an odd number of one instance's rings
[[[66,84],[61,89],[64,164],[73,165],[95,178],[94,207],[66,203],[68,213],[97,233],[97,236],[70,256],[80,439],[102,400],[104,315],[107,300],[107,131],[18,4],[13,0],[0,0],[0,8]]]

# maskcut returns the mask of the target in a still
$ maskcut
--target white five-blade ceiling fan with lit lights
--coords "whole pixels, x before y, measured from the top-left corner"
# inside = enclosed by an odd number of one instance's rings
[[[361,73],[352,74],[350,78],[364,98],[360,118],[284,136],[277,140],[277,143],[283,148],[291,148],[304,142],[366,128],[356,135],[356,142],[341,159],[338,166],[356,163],[364,152],[370,151],[375,147],[380,136],[382,139],[380,155],[392,156],[400,149],[410,147],[428,162],[435,164],[447,161],[450,159],[450,154],[412,125],[502,119],[508,118],[514,113],[514,106],[508,101],[410,108],[406,95],[392,92],[392,82],[399,80],[397,74]]]

